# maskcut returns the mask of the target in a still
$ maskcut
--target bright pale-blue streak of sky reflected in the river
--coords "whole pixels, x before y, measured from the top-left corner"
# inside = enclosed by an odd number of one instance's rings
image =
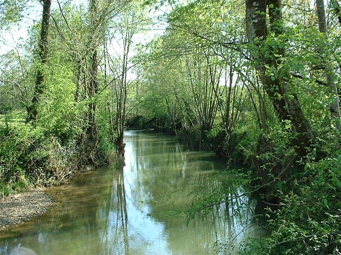
[[[124,250],[124,242],[127,242],[129,244],[130,252],[131,250],[133,251],[131,254],[137,254],[142,251],[143,254],[172,254],[167,247],[168,243],[167,236],[164,233],[164,225],[148,216],[150,208],[146,203],[142,202],[142,199],[139,200],[138,205],[134,205],[135,200],[132,198],[132,188],[135,188],[139,183],[138,165],[136,163],[139,159],[135,152],[138,148],[133,146],[132,142],[129,142],[129,136],[127,136],[127,139],[128,141],[126,141],[125,148],[126,165],[123,168],[123,173],[126,195],[128,240],[124,239],[124,233],[120,233],[121,240],[119,240],[119,242],[115,241],[109,243],[111,247],[107,248],[110,250],[111,254],[121,254],[122,250]],[[141,191],[143,192],[143,190]],[[113,196],[115,196],[115,194],[113,194]],[[115,199],[115,197],[113,199]],[[103,240],[115,240],[117,238],[117,229],[115,228],[117,227],[117,222],[121,220],[120,217],[124,216],[119,215],[115,210],[109,212],[107,228],[110,231],[107,231]],[[120,227],[124,228],[122,225]],[[104,243],[108,245],[107,242]],[[118,244],[121,244],[121,249],[117,249]]]

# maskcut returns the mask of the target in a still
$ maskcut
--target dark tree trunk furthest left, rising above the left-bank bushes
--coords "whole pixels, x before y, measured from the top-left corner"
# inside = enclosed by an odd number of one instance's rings
[[[48,61],[48,36],[50,27],[50,13],[51,13],[51,0],[42,1],[42,19],[41,19],[41,30],[39,40],[39,62],[40,66],[37,71],[36,83],[33,91],[33,97],[31,105],[27,108],[28,115],[26,122],[35,122],[38,118],[38,107],[39,100],[42,93],[45,91],[46,86],[44,84],[44,75],[42,68],[45,67]]]

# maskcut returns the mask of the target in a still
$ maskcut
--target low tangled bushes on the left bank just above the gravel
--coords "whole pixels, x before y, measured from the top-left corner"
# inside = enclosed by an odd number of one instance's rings
[[[59,182],[62,173],[74,167],[76,155],[75,142],[61,146],[39,127],[21,123],[0,126],[0,182],[9,190]]]

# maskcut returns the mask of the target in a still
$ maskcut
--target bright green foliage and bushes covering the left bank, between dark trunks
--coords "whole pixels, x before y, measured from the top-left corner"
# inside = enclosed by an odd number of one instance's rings
[[[111,15],[109,12],[115,9],[111,9],[111,4],[113,5],[108,1],[98,3],[98,7],[106,12],[100,17],[105,23],[104,27],[108,22],[104,20],[105,17]],[[0,5],[8,14],[11,14],[12,8],[17,11],[13,14],[20,15],[18,7],[21,1],[5,1]],[[0,181],[7,183],[10,190],[19,189],[25,183],[35,186],[59,183],[77,168],[82,168],[89,154],[99,149],[96,157],[105,158],[115,149],[112,145],[115,140],[111,132],[112,123],[109,124],[105,109],[107,101],[102,102],[107,98],[90,95],[91,91],[86,87],[92,76],[89,73],[89,40],[92,38],[89,36],[89,11],[82,4],[75,8],[72,3],[66,3],[61,8],[60,11],[53,11],[46,65],[41,65],[39,61],[38,22],[30,26],[29,41],[22,47],[24,53],[21,50],[22,45],[17,44],[15,50],[0,59],[0,112],[8,112],[6,117],[0,118],[4,122],[1,123],[0,136]],[[2,14],[0,13],[1,18]],[[102,30],[100,34],[97,38],[99,40],[102,38]],[[96,44],[97,46],[96,50],[101,55],[102,48]],[[101,61],[99,65],[102,65]],[[39,95],[38,119],[33,126],[19,124],[12,117],[13,110],[28,110],[37,69],[44,78],[43,91]],[[96,90],[102,89],[105,86],[104,78],[99,74],[95,79],[98,80]],[[99,105],[97,116],[94,117],[99,122],[94,124],[94,130],[100,140],[89,144],[86,131],[89,125],[89,105],[92,103]],[[110,106],[110,109],[113,108],[113,105]],[[24,122],[22,119],[20,121]],[[97,161],[100,160],[94,159],[93,163]]]

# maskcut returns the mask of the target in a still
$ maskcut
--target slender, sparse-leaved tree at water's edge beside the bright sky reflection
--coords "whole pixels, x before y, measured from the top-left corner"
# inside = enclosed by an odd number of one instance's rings
[[[133,37],[140,32],[143,26],[148,22],[146,12],[141,7],[139,1],[126,3],[116,19],[113,21],[116,31],[110,36],[110,45],[118,47],[116,56],[109,56],[109,68],[112,72],[112,93],[115,98],[115,144],[117,155],[124,155],[124,130],[127,116],[127,93],[132,85],[131,68],[133,64],[130,61],[131,50],[133,46]],[[116,40],[116,41],[115,41]]]

